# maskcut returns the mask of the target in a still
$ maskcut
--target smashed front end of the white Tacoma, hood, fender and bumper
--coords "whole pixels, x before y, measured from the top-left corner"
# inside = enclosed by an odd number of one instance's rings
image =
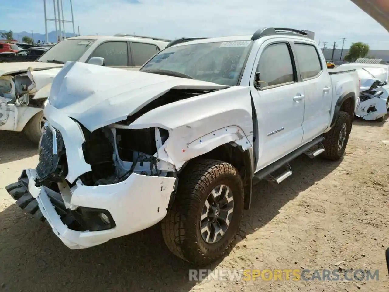
[[[72,249],[151,227],[187,161],[223,144],[252,147],[249,90],[67,63],[44,109],[39,164],[6,189]]]

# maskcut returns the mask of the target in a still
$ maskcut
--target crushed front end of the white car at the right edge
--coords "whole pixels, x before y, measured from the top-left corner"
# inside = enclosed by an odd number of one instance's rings
[[[368,79],[361,84],[356,116],[363,120],[382,120],[389,108],[387,82]]]

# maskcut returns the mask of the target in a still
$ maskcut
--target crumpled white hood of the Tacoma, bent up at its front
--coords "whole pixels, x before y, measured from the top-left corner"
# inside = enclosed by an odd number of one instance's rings
[[[67,62],[51,84],[48,103],[93,132],[125,120],[170,89],[207,90],[227,87],[230,86]]]

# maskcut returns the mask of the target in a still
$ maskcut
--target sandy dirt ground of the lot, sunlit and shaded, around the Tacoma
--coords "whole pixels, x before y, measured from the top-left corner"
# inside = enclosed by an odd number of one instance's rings
[[[280,185],[254,187],[231,252],[210,269],[379,270],[370,281],[189,281],[189,264],[165,247],[159,225],[70,250],[14,205],[4,186],[35,167],[37,148],[0,133],[0,291],[389,291],[389,119],[354,121],[339,162],[301,156]]]

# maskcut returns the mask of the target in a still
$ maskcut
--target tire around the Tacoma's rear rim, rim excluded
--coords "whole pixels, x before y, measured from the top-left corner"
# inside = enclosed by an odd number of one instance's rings
[[[342,131],[344,124],[347,127],[347,131],[343,142],[343,146],[339,150],[338,141],[339,141],[340,132]],[[351,127],[352,127],[352,117],[350,116],[350,114],[344,111],[340,111],[338,113],[338,117],[336,118],[334,127],[331,130],[329,130],[329,132],[323,134],[324,152],[321,155],[322,158],[328,160],[339,160],[343,156],[347,146],[347,142],[349,141]]]

